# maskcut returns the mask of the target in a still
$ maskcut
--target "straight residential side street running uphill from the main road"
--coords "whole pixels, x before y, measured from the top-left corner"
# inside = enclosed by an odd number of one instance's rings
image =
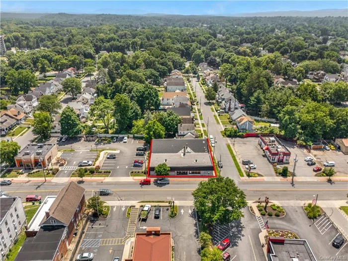
[[[227,149],[227,140],[222,137],[221,131],[223,130],[219,124],[216,123],[214,114],[210,109],[208,101],[205,99],[202,88],[199,86],[196,78],[193,78],[193,89],[197,90],[196,96],[198,102],[201,101],[201,113],[203,115],[203,122],[208,130],[208,136],[213,135],[216,138],[215,144],[215,158],[223,163],[223,168],[221,169],[221,175],[228,176],[238,183],[239,174],[237,172],[236,166],[234,165],[230,152]]]

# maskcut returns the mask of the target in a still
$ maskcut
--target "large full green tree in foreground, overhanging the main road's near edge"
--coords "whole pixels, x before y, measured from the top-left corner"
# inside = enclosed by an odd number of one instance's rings
[[[248,204],[244,192],[229,177],[201,181],[192,195],[194,207],[204,224],[238,220],[244,216],[242,209]]]

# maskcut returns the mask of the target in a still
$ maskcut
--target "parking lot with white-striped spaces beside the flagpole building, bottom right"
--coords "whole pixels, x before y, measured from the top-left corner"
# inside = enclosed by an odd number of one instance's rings
[[[321,257],[334,257],[335,260],[338,257],[348,257],[346,242],[340,249],[332,246],[332,241],[339,232],[326,215],[316,218],[313,223],[301,206],[283,206],[283,209],[286,212],[283,218],[262,217],[264,222],[268,219],[269,229],[290,230],[300,239],[307,240],[317,260],[323,260]]]

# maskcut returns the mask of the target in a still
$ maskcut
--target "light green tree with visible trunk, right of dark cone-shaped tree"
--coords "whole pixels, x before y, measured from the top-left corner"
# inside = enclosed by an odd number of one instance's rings
[[[109,133],[109,127],[112,120],[114,106],[112,100],[105,99],[103,96],[97,97],[92,106],[90,106],[89,114],[95,120],[101,120],[106,128],[106,133]]]

